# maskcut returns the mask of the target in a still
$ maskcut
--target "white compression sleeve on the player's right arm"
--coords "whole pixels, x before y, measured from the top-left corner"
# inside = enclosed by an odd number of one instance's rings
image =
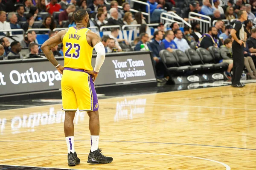
[[[99,72],[99,69],[101,68],[104,60],[105,60],[105,47],[102,44],[102,42],[99,42],[98,44],[96,44],[94,46],[95,51],[97,52],[97,57],[96,57],[96,63],[95,63],[95,67],[94,67],[94,71]]]

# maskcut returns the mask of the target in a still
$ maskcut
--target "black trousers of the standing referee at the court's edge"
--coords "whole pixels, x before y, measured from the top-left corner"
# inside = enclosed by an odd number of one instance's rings
[[[239,45],[236,41],[232,44],[233,51],[233,77],[232,84],[240,83],[241,75],[244,70],[244,45]]]

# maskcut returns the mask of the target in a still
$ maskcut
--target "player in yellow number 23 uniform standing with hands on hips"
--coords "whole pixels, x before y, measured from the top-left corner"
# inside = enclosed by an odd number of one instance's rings
[[[80,164],[74,148],[73,120],[77,108],[87,111],[90,121],[91,149],[87,163],[106,164],[113,158],[103,156],[99,145],[99,105],[94,88],[94,81],[105,60],[105,48],[98,34],[90,31],[89,15],[86,10],[79,9],[74,13],[76,27],[59,31],[44,42],[41,49],[47,59],[63,74],[61,79],[62,110],[66,111],[64,133],[68,149],[68,165]],[[54,58],[51,48],[63,42],[64,67]],[[97,52],[96,64],[91,65],[93,47]]]

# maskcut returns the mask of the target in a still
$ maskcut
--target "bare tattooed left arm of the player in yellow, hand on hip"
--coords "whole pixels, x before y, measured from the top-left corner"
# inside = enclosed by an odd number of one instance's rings
[[[62,38],[65,35],[66,30],[59,31],[55,36],[49,38],[46,42],[41,46],[41,50],[44,52],[47,59],[58,69],[58,71],[62,74],[63,66],[61,66],[58,61],[55,59],[52,48],[62,42]]]

